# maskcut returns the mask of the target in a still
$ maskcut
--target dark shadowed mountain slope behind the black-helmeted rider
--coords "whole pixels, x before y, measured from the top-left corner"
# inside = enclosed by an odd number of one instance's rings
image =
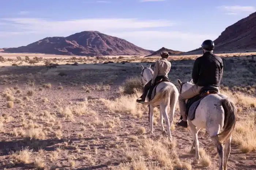
[[[215,53],[256,51],[256,12],[227,27],[214,40]],[[202,48],[184,54],[202,54]]]

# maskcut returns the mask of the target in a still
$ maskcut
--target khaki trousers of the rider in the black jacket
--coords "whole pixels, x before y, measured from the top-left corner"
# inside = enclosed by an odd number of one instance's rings
[[[199,92],[202,88],[203,88],[202,86],[193,85],[187,91],[180,94],[178,101],[179,101],[179,106],[180,106],[180,115],[182,116],[183,121],[187,121],[186,100],[199,94]]]

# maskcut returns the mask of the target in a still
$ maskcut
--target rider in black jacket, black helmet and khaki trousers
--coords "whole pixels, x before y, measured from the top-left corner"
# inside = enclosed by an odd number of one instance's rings
[[[182,116],[182,120],[176,123],[178,126],[188,127],[187,117],[185,114],[185,100],[199,94],[200,90],[204,86],[210,85],[219,87],[222,79],[223,62],[220,57],[213,54],[214,42],[208,39],[205,40],[201,46],[203,49],[203,56],[196,58],[192,70],[192,79],[195,85],[181,93],[178,98],[180,115]]]

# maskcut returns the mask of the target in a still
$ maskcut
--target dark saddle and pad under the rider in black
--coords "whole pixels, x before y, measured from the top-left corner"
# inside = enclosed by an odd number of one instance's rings
[[[200,101],[208,96],[209,94],[217,94],[219,92],[219,89],[215,86],[205,86],[203,87],[199,94],[188,99],[187,106],[186,106],[186,116],[188,119],[193,120],[195,119],[195,112],[196,108],[200,104]]]

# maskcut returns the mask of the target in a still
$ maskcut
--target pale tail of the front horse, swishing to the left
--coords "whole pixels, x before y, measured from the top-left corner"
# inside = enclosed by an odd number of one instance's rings
[[[160,100],[164,100],[165,103],[168,103],[175,93],[173,86],[165,86],[162,90],[155,95],[155,97],[149,102],[143,102],[142,104],[154,104]],[[170,99],[169,99],[170,96]]]

